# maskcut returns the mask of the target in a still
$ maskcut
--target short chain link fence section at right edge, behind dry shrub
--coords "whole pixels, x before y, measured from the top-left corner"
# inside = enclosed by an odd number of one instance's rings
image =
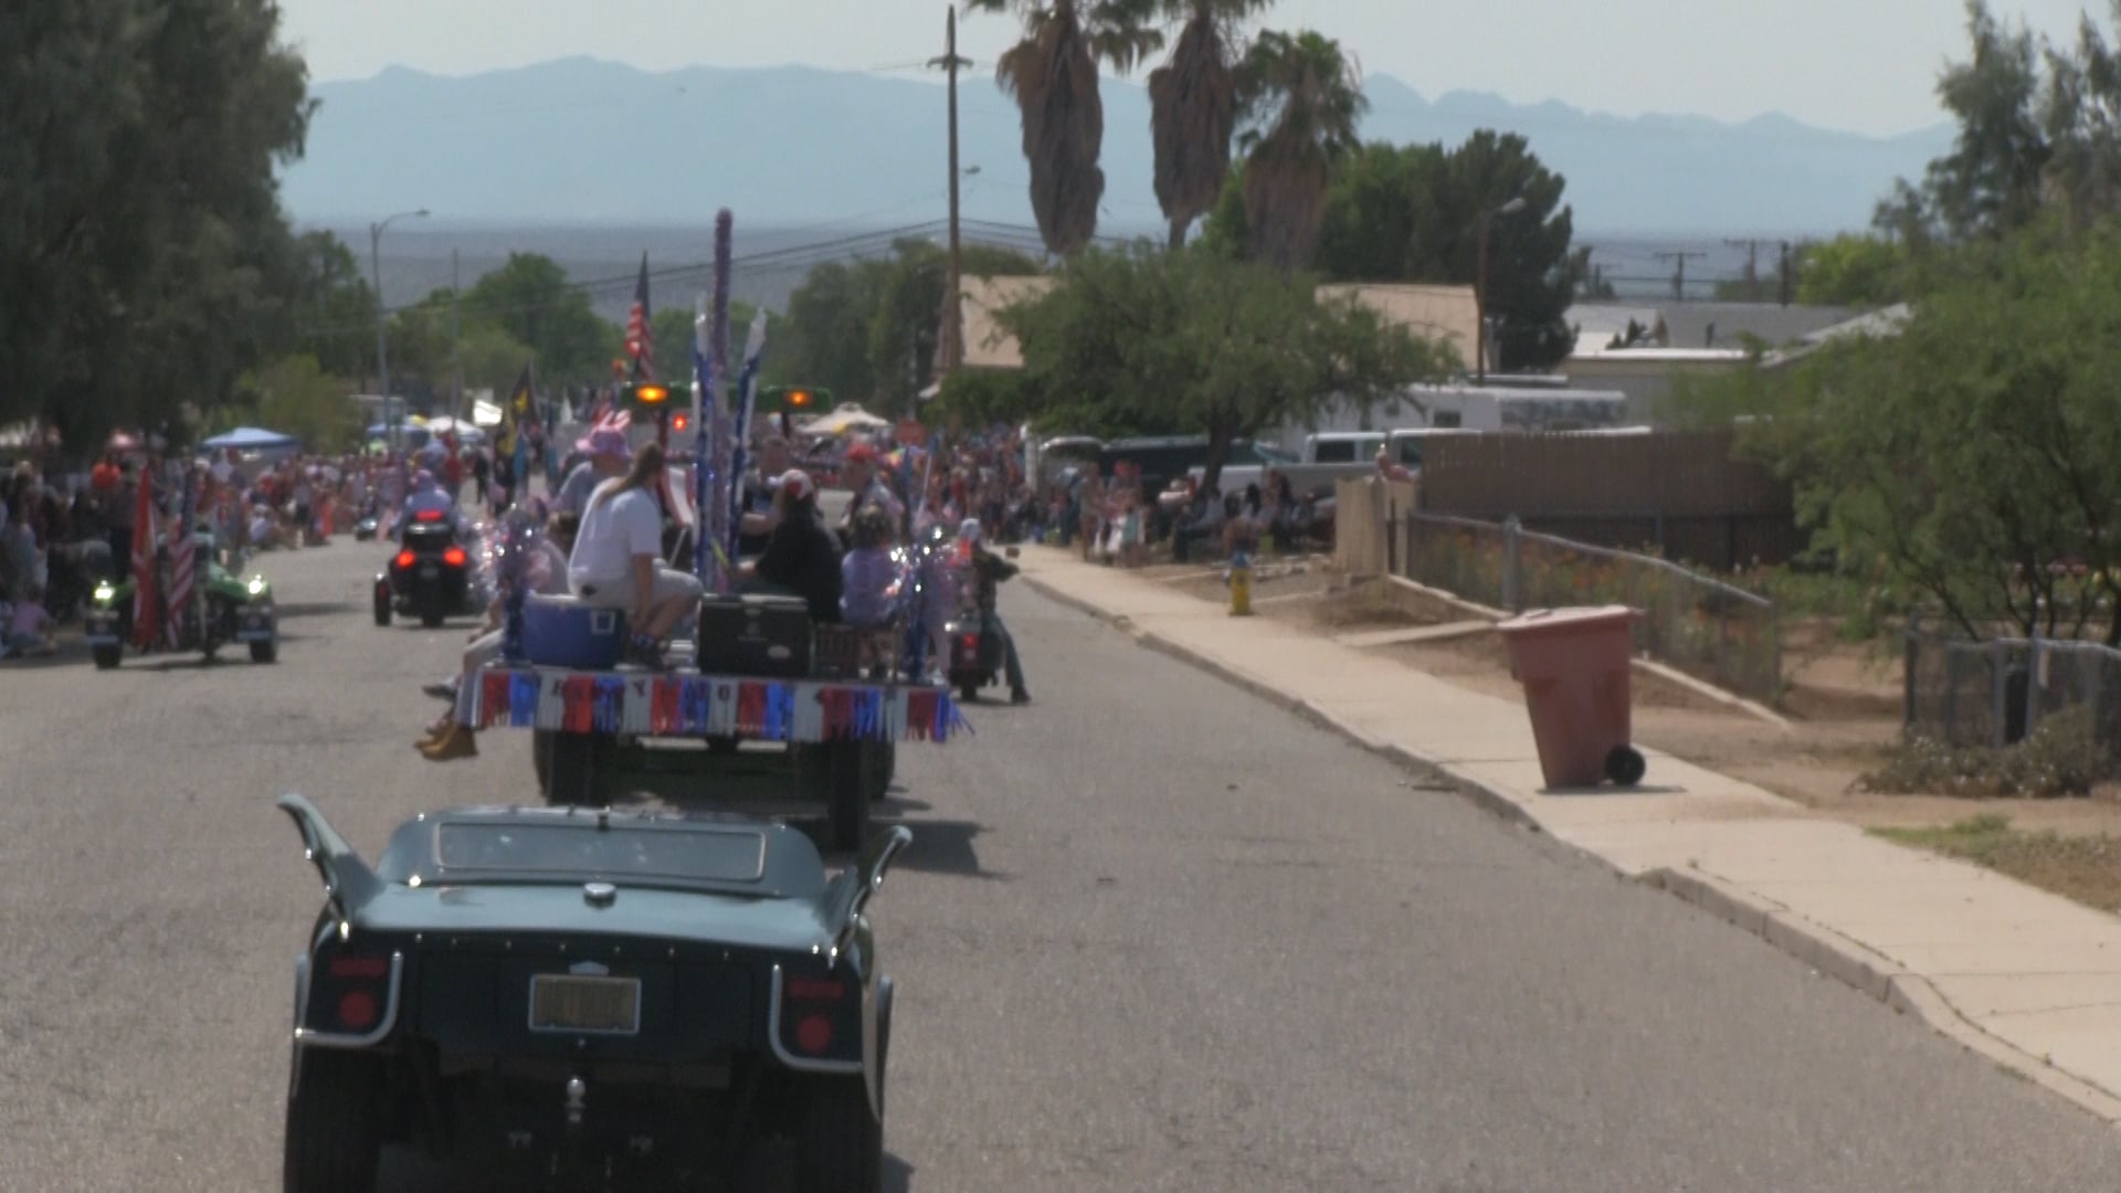
[[[2091,709],[2098,741],[2121,743],[2121,650],[2089,641],[1977,641],[1909,626],[1909,730],[1947,745],[2013,745],[2068,709]]]

